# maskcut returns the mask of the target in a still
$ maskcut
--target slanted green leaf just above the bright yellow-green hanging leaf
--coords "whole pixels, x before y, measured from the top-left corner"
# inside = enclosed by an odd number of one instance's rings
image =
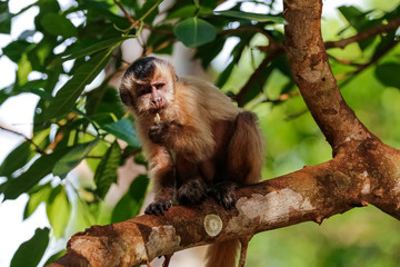
[[[54,176],[64,177],[69,171],[77,167],[82,159],[84,159],[90,150],[98,144],[98,140],[80,144],[66,154],[56,165],[52,170]]]

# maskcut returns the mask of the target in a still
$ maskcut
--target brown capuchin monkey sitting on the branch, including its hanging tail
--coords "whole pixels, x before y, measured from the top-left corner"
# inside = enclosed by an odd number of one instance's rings
[[[214,86],[178,78],[169,62],[146,57],[126,70],[120,97],[136,117],[153,180],[156,198],[146,214],[163,215],[174,201],[191,206],[208,196],[230,209],[234,189],[261,178],[263,137],[256,116]],[[214,244],[208,266],[234,266],[238,246]]]

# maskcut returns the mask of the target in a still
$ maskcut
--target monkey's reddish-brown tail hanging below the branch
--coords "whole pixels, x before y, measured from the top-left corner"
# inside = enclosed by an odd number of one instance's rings
[[[207,250],[206,267],[234,267],[239,239],[212,244]]]

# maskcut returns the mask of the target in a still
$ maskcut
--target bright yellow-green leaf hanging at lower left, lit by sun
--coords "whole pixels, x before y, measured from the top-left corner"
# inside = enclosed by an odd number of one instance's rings
[[[53,189],[47,201],[46,212],[54,237],[62,237],[71,216],[71,204],[68,200],[63,186],[58,186]]]

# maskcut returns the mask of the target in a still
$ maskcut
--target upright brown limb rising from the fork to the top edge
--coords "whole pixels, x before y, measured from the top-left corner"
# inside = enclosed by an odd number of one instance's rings
[[[284,1],[284,44],[294,81],[333,152],[348,141],[376,138],[337,86],[321,36],[322,1]]]

